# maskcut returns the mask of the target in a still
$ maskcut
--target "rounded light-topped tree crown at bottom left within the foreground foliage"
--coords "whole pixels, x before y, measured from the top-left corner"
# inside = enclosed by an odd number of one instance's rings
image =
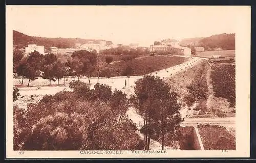
[[[91,121],[86,115],[56,113],[41,118],[24,142],[27,150],[79,150]]]

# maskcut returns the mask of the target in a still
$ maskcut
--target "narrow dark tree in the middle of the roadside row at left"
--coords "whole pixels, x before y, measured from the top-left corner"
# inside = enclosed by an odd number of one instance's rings
[[[55,82],[55,70],[54,64],[57,61],[57,57],[51,53],[44,56],[44,65],[42,66],[42,78],[49,79],[49,85],[51,85],[51,81]]]

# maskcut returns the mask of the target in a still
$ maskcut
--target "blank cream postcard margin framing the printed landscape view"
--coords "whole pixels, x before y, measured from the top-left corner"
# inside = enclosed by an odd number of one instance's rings
[[[25,7],[25,6],[24,6]],[[42,6],[43,7],[43,6]],[[61,6],[65,7],[65,6]],[[81,6],[80,6],[81,7]],[[90,6],[95,7],[95,6]],[[111,6],[109,6],[111,7]],[[168,6],[166,6],[168,7]],[[182,8],[183,6],[176,6]],[[199,6],[194,6],[199,7]],[[200,6],[207,7],[207,6]],[[212,7],[212,6],[211,6]],[[218,12],[216,6],[216,12]],[[122,154],[81,154],[81,151],[14,151],[12,106],[12,17],[15,6],[6,6],[6,158],[172,158],[172,157],[249,157],[250,154],[250,6],[237,8],[236,26],[236,145],[234,151],[182,150],[148,154],[132,151]],[[223,24],[225,25],[225,24]]]

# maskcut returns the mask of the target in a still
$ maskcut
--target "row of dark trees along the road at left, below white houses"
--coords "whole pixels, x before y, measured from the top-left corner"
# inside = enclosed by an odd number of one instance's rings
[[[77,76],[78,80],[81,75],[87,76],[90,83],[90,77],[95,69],[97,69],[96,51],[89,52],[87,50],[75,51],[71,55],[71,59],[67,63],[57,60],[57,57],[50,53],[41,55],[34,51],[24,57],[19,50],[13,52],[13,72],[16,76],[22,76],[21,85],[24,78],[28,78],[28,86],[30,81],[35,80],[39,76],[51,81],[58,80],[66,75]]]

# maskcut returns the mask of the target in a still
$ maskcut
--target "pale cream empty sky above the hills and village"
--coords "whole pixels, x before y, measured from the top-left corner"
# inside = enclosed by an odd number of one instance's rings
[[[236,32],[239,6],[7,6],[7,22],[29,36],[103,39],[114,44]]]

